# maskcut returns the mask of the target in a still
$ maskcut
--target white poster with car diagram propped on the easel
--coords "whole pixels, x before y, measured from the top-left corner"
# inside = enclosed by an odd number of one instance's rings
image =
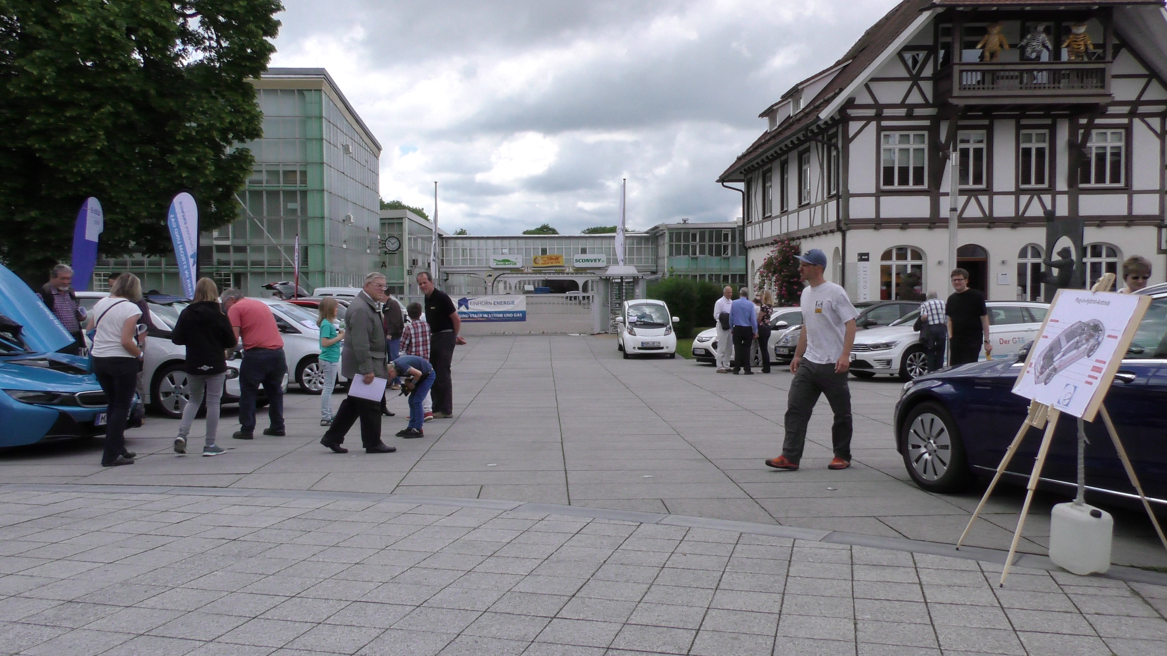
[[[1013,393],[1093,421],[1151,296],[1058,289]]]

